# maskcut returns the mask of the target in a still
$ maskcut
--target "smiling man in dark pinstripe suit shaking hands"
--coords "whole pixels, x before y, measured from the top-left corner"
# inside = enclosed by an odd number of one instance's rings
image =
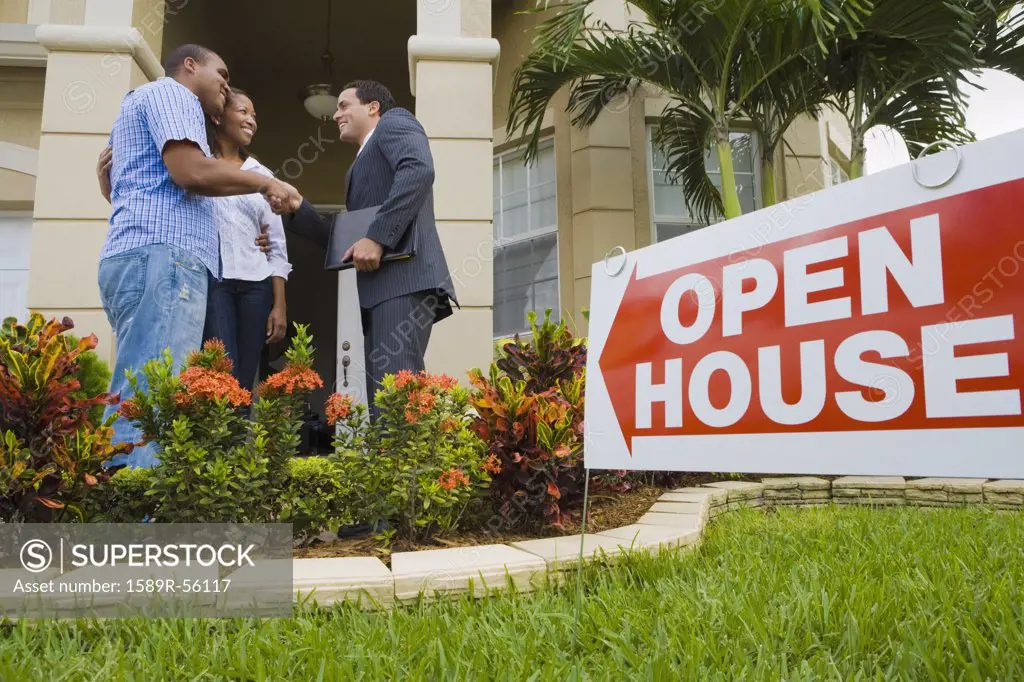
[[[432,326],[458,301],[434,222],[434,165],[423,126],[375,81],[346,85],[334,121],[342,141],[359,147],[345,176],[345,209],[380,207],[367,238],[345,254],[357,272],[367,402],[376,417],[384,375],[422,371]],[[327,248],[330,225],[308,202],[288,223]],[[382,262],[408,230],[415,230],[416,255]]]

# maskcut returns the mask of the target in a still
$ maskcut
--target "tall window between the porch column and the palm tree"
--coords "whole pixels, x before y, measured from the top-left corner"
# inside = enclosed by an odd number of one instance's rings
[[[495,157],[495,338],[528,330],[526,313],[559,317],[555,147],[542,142],[526,166],[522,152]]]

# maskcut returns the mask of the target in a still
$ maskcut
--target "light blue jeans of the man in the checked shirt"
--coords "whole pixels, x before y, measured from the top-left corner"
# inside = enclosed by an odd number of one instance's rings
[[[203,341],[206,318],[206,266],[191,254],[174,246],[139,247],[99,261],[99,296],[106,319],[114,330],[117,361],[111,392],[122,400],[133,394],[125,376],[134,370],[138,387],[147,387],[142,367],[161,357],[165,349],[174,358],[174,372]],[[117,406],[106,409],[109,417]],[[119,417],[114,424],[114,442],[138,442],[141,433]],[[153,443],[118,455],[104,466],[127,465],[153,468],[159,459]]]

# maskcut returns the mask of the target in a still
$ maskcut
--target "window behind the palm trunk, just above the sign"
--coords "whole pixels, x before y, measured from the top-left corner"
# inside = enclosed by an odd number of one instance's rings
[[[665,157],[654,148],[651,126],[647,127],[647,159],[650,162],[648,186],[651,196],[651,222],[655,242],[679,237],[705,227],[705,223],[694,217],[686,202],[682,187],[669,182]],[[758,209],[758,174],[755,160],[757,146],[753,132],[736,131],[729,135],[732,143],[732,166],[736,177],[736,190],[743,213]],[[708,153],[708,175],[716,187],[722,187],[722,169],[718,153]]]

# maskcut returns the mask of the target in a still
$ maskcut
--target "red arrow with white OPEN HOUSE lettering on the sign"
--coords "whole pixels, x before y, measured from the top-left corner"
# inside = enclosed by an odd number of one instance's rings
[[[643,279],[634,268],[598,360],[627,447],[1024,425],[1021,196],[1016,180]]]

